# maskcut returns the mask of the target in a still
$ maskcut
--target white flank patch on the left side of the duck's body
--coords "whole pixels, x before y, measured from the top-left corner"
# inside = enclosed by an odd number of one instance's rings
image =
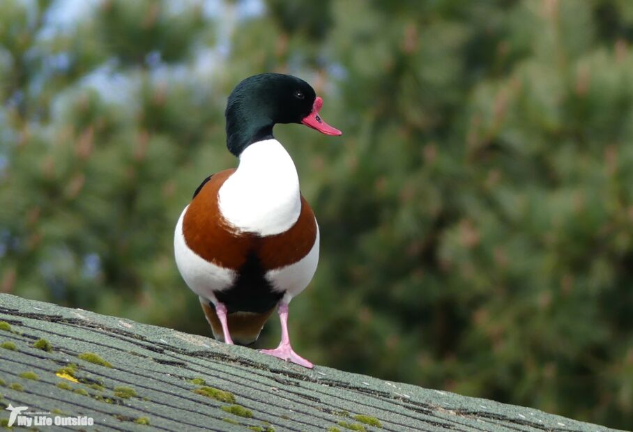
[[[236,272],[206,261],[188,247],[183,236],[183,219],[188,208],[189,206],[185,207],[181,213],[174,233],[176,265],[191,291],[215,303],[213,292],[223,291],[232,286]]]

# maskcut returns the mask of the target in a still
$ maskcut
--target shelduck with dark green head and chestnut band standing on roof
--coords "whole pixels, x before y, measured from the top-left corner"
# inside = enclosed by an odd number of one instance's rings
[[[298,123],[340,136],[319,115],[321,107],[314,88],[293,75],[243,79],[224,112],[227,148],[238,166],[202,181],[174,233],[176,266],[215,339],[253,344],[276,308],[280,344],[260,352],[310,369],[291,346],[288,314],[317,270],[319,225],[273,127]]]

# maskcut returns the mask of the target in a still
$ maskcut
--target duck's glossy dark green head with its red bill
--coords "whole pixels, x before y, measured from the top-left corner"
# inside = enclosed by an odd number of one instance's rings
[[[276,123],[303,123],[323,134],[342,134],[321,119],[322,105],[303,79],[277,73],[248,77],[229,96],[227,147],[239,156],[250,144],[272,138]]]

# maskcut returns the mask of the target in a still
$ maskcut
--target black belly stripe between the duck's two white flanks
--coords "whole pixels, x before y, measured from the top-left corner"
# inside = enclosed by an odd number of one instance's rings
[[[233,286],[217,291],[215,298],[224,303],[229,314],[238,311],[261,314],[273,309],[283,295],[284,293],[273,291],[257,254],[251,253],[238,270]]]

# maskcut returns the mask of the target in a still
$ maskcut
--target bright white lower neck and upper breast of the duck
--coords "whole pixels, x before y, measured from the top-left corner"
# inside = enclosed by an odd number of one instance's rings
[[[287,231],[301,212],[297,169],[276,139],[251,144],[218,192],[220,212],[240,231],[273,236]]]

